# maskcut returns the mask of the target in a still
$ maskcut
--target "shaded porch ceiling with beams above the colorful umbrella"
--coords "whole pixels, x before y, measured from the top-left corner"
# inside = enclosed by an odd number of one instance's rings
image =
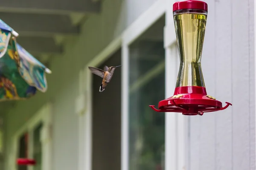
[[[61,55],[61,40],[78,36],[80,21],[99,13],[101,3],[101,0],[6,0],[1,2],[0,19],[19,33],[17,42],[21,46],[45,63],[46,55]]]

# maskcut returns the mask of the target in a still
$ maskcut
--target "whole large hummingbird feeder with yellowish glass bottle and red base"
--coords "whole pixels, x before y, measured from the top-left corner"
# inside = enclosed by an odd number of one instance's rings
[[[174,95],[158,103],[157,112],[183,115],[203,115],[226,109],[214,97],[207,95],[201,69],[201,54],[207,21],[207,3],[185,0],[173,4],[173,17],[180,57],[180,68]]]

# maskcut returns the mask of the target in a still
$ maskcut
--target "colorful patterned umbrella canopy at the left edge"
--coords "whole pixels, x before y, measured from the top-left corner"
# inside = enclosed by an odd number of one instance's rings
[[[47,91],[51,71],[17,42],[17,32],[0,20],[0,101],[27,99]]]

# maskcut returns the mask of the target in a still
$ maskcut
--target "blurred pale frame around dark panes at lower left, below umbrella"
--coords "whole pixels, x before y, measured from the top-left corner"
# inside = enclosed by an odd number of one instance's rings
[[[19,138],[24,133],[29,133],[29,153],[30,159],[33,159],[33,130],[39,123],[43,123],[43,127],[40,134],[40,140],[42,143],[42,170],[52,170],[52,105],[51,103],[45,104],[41,107],[13,136],[13,152],[12,159],[9,162],[9,167],[12,170],[17,170],[17,154],[19,150]],[[33,167],[29,166],[28,170],[33,170]]]

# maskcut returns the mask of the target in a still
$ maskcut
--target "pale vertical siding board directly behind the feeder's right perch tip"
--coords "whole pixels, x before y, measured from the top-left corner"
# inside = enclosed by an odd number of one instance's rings
[[[215,97],[223,105],[232,102],[231,35],[231,0],[215,1]],[[216,170],[232,170],[232,112],[230,107],[215,113]]]

